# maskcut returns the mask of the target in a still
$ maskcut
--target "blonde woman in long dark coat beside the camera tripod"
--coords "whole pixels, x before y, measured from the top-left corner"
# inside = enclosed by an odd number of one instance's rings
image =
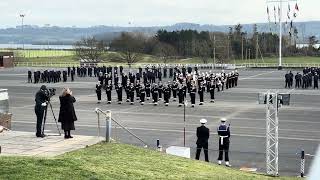
[[[60,113],[58,122],[61,122],[61,128],[64,130],[64,138],[73,138],[70,134],[71,130],[75,130],[74,121],[77,120],[77,116],[73,107],[73,103],[76,99],[72,96],[72,91],[69,88],[64,88],[60,99]]]

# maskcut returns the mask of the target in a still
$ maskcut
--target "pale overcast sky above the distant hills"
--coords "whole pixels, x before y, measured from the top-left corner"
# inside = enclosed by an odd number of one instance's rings
[[[295,3],[291,3],[292,9]],[[320,0],[298,0],[296,21],[320,20]],[[273,18],[273,4],[270,13]],[[1,0],[0,27],[25,24],[88,27],[158,26],[179,22],[245,24],[268,22],[266,0]],[[284,11],[288,3],[284,3]],[[284,14],[284,17],[285,17]],[[131,22],[131,24],[129,24]]]

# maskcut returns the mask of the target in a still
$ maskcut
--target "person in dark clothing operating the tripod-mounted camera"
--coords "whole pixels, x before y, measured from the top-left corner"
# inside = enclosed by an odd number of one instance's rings
[[[42,85],[40,90],[36,93],[35,101],[36,105],[34,107],[34,111],[37,115],[37,137],[44,137],[44,134],[42,132],[42,121],[43,121],[43,115],[47,108],[47,101],[48,96],[46,95],[47,87],[45,85]]]

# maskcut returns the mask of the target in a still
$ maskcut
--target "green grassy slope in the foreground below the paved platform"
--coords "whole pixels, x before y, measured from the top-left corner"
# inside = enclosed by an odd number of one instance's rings
[[[56,158],[2,156],[0,166],[0,179],[297,179],[251,174],[117,143],[101,143]]]

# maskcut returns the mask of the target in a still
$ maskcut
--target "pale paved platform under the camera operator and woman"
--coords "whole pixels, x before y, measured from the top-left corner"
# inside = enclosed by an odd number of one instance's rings
[[[99,138],[94,136],[75,135],[72,139],[64,139],[49,134],[45,138],[36,138],[31,132],[5,131],[0,133],[0,155],[54,157],[98,142]]]

